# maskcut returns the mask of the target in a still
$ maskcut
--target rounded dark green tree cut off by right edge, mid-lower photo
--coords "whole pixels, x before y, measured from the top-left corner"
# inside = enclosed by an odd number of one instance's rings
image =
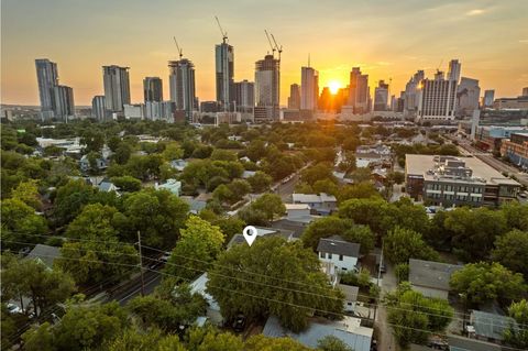
[[[495,240],[492,259],[513,272],[528,276],[528,231],[513,230]]]

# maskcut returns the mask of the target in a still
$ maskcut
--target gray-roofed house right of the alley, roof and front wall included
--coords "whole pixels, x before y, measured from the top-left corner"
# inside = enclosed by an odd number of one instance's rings
[[[448,299],[451,275],[463,266],[424,260],[409,260],[409,283],[427,297]]]

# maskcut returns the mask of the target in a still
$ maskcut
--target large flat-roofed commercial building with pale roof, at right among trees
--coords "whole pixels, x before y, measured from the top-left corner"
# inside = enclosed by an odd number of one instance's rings
[[[406,189],[415,200],[450,207],[498,206],[515,200],[520,184],[476,157],[406,155]]]

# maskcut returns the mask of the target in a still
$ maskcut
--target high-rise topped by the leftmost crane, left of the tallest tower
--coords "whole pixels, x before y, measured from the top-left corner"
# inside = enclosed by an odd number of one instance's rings
[[[177,111],[185,111],[187,121],[191,121],[193,111],[197,110],[195,88],[195,65],[187,58],[169,61],[170,101]]]

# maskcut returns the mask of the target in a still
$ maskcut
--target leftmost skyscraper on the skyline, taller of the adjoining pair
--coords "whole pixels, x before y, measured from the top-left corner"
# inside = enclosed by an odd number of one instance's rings
[[[53,118],[53,88],[58,85],[57,64],[47,58],[35,59],[42,119]]]

